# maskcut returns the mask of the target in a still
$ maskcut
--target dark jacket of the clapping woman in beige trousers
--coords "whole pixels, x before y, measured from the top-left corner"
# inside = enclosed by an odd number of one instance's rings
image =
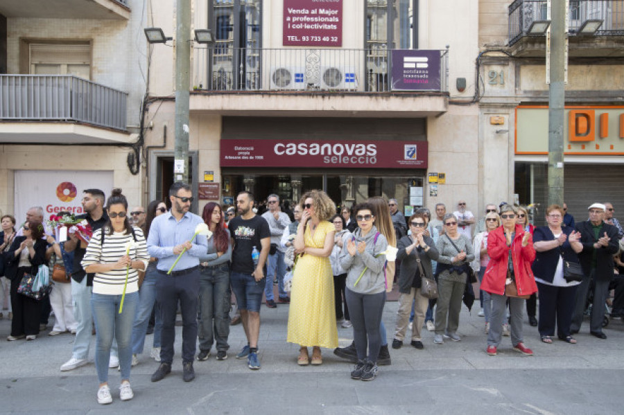
[[[418,262],[416,258],[420,258],[420,264],[422,265],[422,270],[424,271],[424,276],[428,279],[433,279],[433,267],[431,267],[431,261],[436,261],[440,253],[438,253],[435,248],[435,244],[433,243],[433,239],[428,236],[424,236],[424,242],[429,246],[428,251],[420,250],[417,248],[412,249],[410,254],[408,255],[406,252],[406,247],[412,245],[412,240],[409,236],[404,236],[399,240],[397,244],[397,260],[401,261],[401,267],[399,267],[399,292],[409,293],[414,278],[416,275],[416,270],[418,270]],[[422,275],[421,275],[422,276]],[[417,287],[420,287],[420,278],[416,283]]]

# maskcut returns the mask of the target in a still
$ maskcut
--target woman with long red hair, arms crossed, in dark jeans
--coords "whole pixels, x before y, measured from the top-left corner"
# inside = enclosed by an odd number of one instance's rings
[[[229,336],[229,261],[232,259],[232,242],[225,228],[221,206],[209,202],[202,213],[204,222],[212,232],[208,250],[200,256],[200,291],[198,310],[198,337],[200,353],[197,360],[207,360],[213,342],[216,343],[216,360],[227,359]]]

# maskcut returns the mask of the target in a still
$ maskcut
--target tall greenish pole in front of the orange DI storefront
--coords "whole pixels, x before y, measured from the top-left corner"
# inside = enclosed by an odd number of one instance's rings
[[[551,3],[551,26],[546,42],[550,42],[550,67],[546,76],[548,87],[548,204],[563,206],[564,202],[564,107],[567,59],[567,0]],[[548,48],[548,46],[547,46]]]

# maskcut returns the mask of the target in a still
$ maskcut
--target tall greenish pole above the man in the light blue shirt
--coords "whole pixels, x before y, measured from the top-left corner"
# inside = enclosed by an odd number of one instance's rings
[[[190,184],[191,0],[177,0],[175,3],[175,156],[173,181]]]

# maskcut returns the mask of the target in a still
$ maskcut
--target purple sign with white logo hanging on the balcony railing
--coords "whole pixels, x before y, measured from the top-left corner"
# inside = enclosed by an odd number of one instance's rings
[[[440,51],[392,51],[393,91],[440,91]]]

